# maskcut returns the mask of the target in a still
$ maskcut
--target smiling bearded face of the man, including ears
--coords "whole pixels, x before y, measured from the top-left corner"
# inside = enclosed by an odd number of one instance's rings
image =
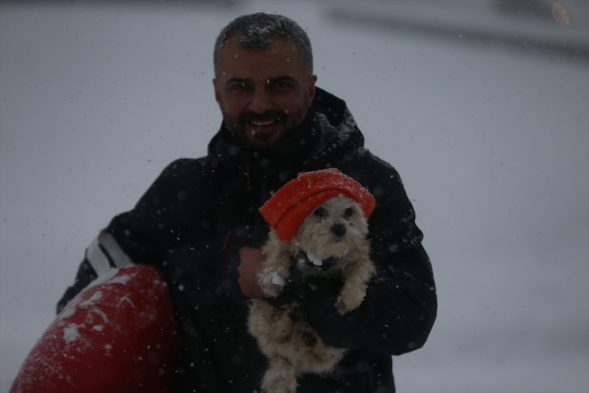
[[[317,77],[305,75],[295,44],[273,38],[252,50],[227,42],[219,60],[215,99],[231,133],[264,150],[303,121]]]

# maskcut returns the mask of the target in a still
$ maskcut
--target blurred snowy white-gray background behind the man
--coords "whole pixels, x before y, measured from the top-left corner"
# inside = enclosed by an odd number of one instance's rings
[[[556,3],[0,1],[0,392],[98,231],[206,154],[214,38],[258,11],[415,207],[439,310],[398,391],[589,391],[589,1]]]

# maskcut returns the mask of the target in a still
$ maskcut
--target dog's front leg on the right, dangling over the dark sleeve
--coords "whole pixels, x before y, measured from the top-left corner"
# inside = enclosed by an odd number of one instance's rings
[[[358,260],[343,269],[342,277],[345,282],[335,303],[339,314],[343,315],[358,308],[366,296],[366,283],[375,274],[376,269],[368,257],[368,252],[360,252]]]

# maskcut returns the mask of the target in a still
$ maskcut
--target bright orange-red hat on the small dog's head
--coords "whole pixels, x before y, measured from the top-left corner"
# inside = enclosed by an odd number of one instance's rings
[[[358,202],[366,218],[374,210],[374,197],[362,184],[330,168],[299,173],[260,207],[260,213],[272,229],[276,229],[278,238],[289,242],[316,206],[338,195]]]

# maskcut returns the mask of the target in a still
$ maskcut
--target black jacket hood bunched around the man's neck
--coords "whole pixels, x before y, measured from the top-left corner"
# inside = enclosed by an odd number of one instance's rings
[[[222,123],[209,143],[206,163],[212,166],[231,164],[231,161],[243,160],[244,156],[253,156],[298,161],[305,166],[319,164],[339,151],[363,146],[364,137],[345,101],[316,87],[315,99],[305,120],[272,150],[254,150],[231,134]]]

